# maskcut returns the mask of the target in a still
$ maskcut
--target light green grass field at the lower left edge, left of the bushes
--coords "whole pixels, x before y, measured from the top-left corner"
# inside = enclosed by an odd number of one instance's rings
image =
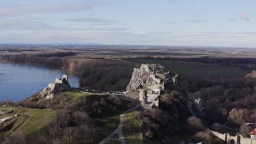
[[[42,109],[29,109],[29,108],[20,108],[20,107],[7,107],[0,108],[11,109],[13,110],[10,114],[0,115],[4,116],[14,116],[18,114],[19,116],[10,119],[7,122],[4,122],[2,127],[0,127],[0,133],[10,134],[14,130],[20,130],[25,134],[31,134],[36,131],[39,131],[46,125],[46,118],[53,118],[54,111],[44,111]]]

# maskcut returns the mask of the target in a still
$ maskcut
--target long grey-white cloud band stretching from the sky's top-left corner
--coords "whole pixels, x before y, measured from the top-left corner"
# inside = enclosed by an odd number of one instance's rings
[[[14,17],[31,13],[66,13],[93,9],[99,5],[107,5],[107,2],[85,2],[73,4],[26,4],[4,5],[0,7],[0,17]]]

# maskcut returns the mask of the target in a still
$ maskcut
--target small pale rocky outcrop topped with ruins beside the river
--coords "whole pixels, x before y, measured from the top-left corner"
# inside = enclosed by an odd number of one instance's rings
[[[63,75],[62,78],[56,78],[55,83],[48,84],[48,86],[37,95],[37,98],[52,99],[54,94],[65,90],[70,90],[67,75]]]

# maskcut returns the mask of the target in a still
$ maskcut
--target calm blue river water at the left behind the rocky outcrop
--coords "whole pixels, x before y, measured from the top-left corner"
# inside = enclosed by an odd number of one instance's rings
[[[55,78],[68,75],[71,87],[79,86],[78,76],[68,70],[17,63],[0,62],[0,101],[21,101],[41,91]]]

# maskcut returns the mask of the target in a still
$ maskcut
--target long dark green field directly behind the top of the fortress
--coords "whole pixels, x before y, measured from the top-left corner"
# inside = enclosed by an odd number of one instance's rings
[[[177,73],[180,76],[245,76],[250,71],[231,67],[221,66],[211,63],[175,61],[175,60],[157,60],[157,59],[130,59],[139,63],[158,63],[169,70],[171,73]]]

